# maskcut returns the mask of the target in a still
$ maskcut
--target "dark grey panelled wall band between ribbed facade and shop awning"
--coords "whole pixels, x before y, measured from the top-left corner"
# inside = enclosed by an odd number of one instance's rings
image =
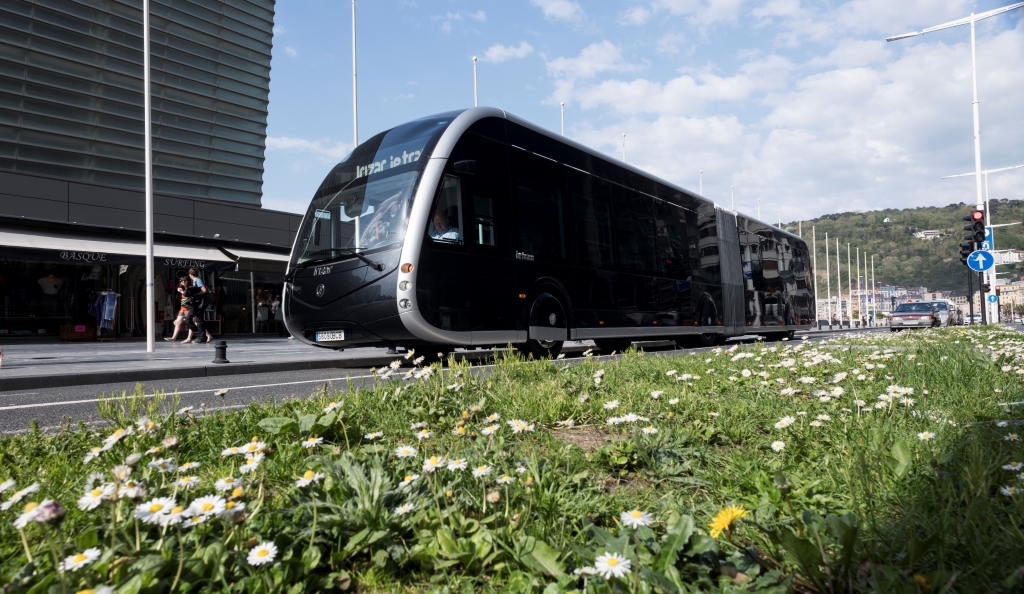
[[[227,202],[154,195],[154,231],[292,247],[301,215]],[[0,217],[145,230],[141,192],[0,171]]]

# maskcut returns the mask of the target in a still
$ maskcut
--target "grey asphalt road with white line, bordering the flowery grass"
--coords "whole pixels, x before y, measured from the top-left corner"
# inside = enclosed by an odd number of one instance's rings
[[[888,329],[873,329],[887,331]],[[821,340],[840,333],[813,332],[808,340]],[[849,332],[843,334],[850,334]],[[752,337],[753,338],[753,337]],[[383,349],[381,349],[383,352]],[[646,352],[671,352],[670,348],[646,348]],[[569,359],[579,355],[569,355]],[[474,364],[485,369],[486,362]],[[313,370],[275,372],[221,377],[202,377],[190,380],[155,380],[144,384],[144,394],[152,397],[154,391],[167,393],[177,391],[180,406],[206,410],[241,409],[253,401],[281,401],[293,397],[305,397],[333,383],[338,389],[345,389],[346,380],[353,386],[371,378],[369,369]],[[223,396],[214,392],[227,389]],[[27,430],[35,419],[44,431],[56,431],[61,423],[100,423],[96,408],[102,394],[133,393],[135,384],[99,384],[37,390],[0,392],[0,434],[19,433]]]

